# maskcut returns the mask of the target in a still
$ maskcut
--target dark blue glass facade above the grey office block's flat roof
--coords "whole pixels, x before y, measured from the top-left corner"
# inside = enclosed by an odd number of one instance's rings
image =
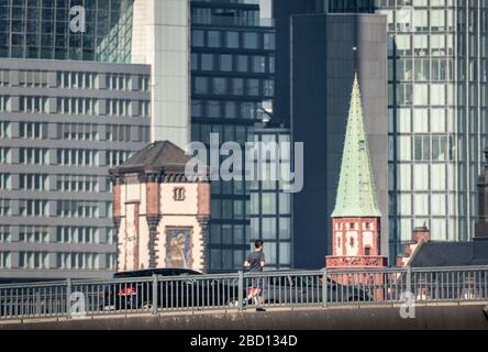
[[[130,63],[133,0],[0,0],[0,57]],[[85,9],[74,32],[70,9]]]

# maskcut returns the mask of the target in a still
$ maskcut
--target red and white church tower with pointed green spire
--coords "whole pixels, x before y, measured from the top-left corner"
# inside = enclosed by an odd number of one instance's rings
[[[332,213],[331,268],[384,267],[380,221],[375,178],[363,119],[356,72],[344,142],[335,209]]]

